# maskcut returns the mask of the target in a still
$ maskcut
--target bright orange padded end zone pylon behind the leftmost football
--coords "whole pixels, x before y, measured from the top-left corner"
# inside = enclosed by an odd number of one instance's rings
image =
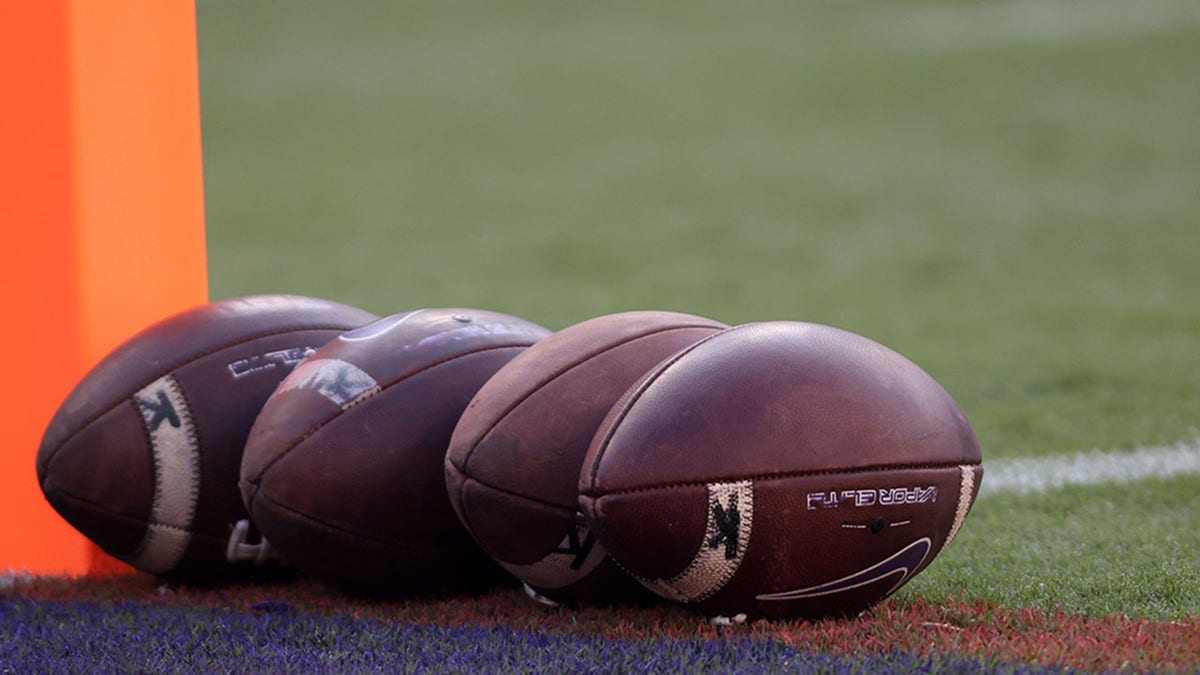
[[[46,503],[42,431],[91,365],[208,298],[191,0],[0,2],[0,572],[125,569]]]

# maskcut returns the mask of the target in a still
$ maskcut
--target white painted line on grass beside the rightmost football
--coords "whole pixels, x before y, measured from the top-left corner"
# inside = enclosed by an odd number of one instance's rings
[[[1174,446],[1132,450],[1090,450],[1066,456],[984,460],[983,470],[979,496],[1004,492],[1032,495],[1066,485],[1171,478],[1200,473],[1200,437]]]

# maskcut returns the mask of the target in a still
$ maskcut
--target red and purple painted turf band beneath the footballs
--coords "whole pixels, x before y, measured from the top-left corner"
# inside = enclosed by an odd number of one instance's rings
[[[1148,621],[887,601],[853,619],[714,626],[673,604],[546,608],[516,589],[379,602],[305,579],[232,587],[148,575],[14,579],[0,664],[68,669],[437,671],[1187,671],[1200,617]],[[132,656],[131,656],[132,655]],[[23,661],[18,661],[23,659]],[[59,659],[59,661],[54,661]],[[175,668],[178,664],[179,668]],[[118,668],[126,669],[126,668]]]

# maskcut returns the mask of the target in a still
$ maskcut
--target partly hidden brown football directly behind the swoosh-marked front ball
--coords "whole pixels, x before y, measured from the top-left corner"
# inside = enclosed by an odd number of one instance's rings
[[[584,321],[509,362],[467,406],[445,461],[451,502],[530,596],[613,603],[648,595],[588,531],[580,467],[600,422],[634,382],[725,328],[659,311]]]

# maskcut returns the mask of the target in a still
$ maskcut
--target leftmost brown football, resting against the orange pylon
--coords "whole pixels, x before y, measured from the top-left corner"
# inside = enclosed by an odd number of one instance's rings
[[[298,295],[217,300],[101,360],[50,420],[37,480],[109,555],[185,581],[252,575],[271,558],[238,471],[254,416],[317,347],[376,316]]]

